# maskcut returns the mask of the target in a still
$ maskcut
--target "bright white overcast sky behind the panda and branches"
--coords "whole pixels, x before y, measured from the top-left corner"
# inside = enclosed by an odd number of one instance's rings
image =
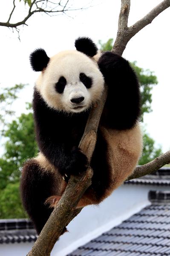
[[[88,6],[90,0],[74,0],[74,7]],[[131,0],[129,26],[146,15],[161,0]],[[18,1],[19,3],[19,1]],[[11,6],[10,6],[11,4]],[[17,83],[29,84],[20,93],[20,99],[12,108],[17,115],[25,110],[25,102],[31,102],[34,73],[29,65],[29,54],[37,47],[52,56],[64,49],[74,49],[78,36],[88,36],[98,42],[116,37],[121,0],[94,0],[84,11],[69,12],[66,15],[49,17],[35,14],[27,21],[28,26],[17,33],[0,27],[0,85],[11,87]],[[12,0],[1,0],[0,21],[6,21],[12,9]],[[26,11],[19,9],[16,21],[24,17]],[[144,122],[151,137],[163,151],[170,149],[170,8],[162,12],[153,22],[138,32],[127,44],[123,54],[129,61],[154,71],[158,85],[153,89],[153,112],[145,114]]]

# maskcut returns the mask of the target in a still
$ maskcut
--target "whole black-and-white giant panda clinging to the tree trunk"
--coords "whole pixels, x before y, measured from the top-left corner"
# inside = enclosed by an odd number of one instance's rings
[[[89,166],[78,148],[92,106],[108,86],[95,151],[92,185],[77,207],[99,204],[133,173],[141,155],[140,90],[129,62],[98,52],[90,38],[78,38],[75,50],[49,58],[44,49],[30,55],[41,71],[33,96],[39,154],[27,160],[21,175],[23,206],[39,234],[58,203],[70,175]]]

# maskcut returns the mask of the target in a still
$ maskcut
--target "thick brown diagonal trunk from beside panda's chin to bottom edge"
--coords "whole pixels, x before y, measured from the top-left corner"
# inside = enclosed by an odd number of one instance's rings
[[[89,113],[86,128],[79,144],[79,147],[86,154],[89,162],[95,148],[98,124],[106,98],[107,87],[105,87],[101,100]],[[86,189],[90,186],[92,174],[92,169],[89,167],[86,172],[81,173],[79,176],[71,176],[58,205],[53,210],[27,256],[50,255],[55,242],[63,232],[63,228],[81,211],[81,209],[75,209],[75,207]]]

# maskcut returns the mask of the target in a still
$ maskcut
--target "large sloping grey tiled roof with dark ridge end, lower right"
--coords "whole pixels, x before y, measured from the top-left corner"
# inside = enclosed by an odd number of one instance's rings
[[[68,256],[170,255],[170,204],[166,202],[169,195],[162,194],[150,192],[153,204]],[[163,203],[159,203],[160,197]]]

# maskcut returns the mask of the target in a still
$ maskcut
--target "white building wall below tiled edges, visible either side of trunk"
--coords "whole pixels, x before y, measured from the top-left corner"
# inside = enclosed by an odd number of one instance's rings
[[[51,256],[66,256],[77,247],[117,226],[150,202],[150,190],[166,190],[163,186],[124,185],[116,189],[98,207],[85,207],[67,226],[65,233],[55,244]],[[33,243],[0,244],[0,256],[26,256]]]

